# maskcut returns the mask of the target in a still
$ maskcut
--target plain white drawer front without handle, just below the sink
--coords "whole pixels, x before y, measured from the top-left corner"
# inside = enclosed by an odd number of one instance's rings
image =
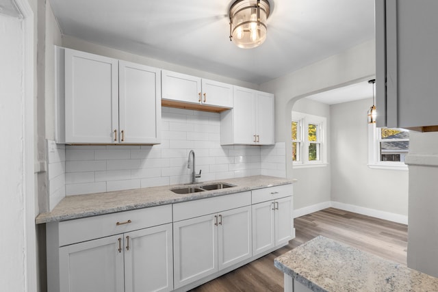
[[[207,214],[217,213],[224,210],[249,206],[251,204],[251,192],[218,196],[190,202],[182,202],[173,205],[173,221],[181,221]]]

